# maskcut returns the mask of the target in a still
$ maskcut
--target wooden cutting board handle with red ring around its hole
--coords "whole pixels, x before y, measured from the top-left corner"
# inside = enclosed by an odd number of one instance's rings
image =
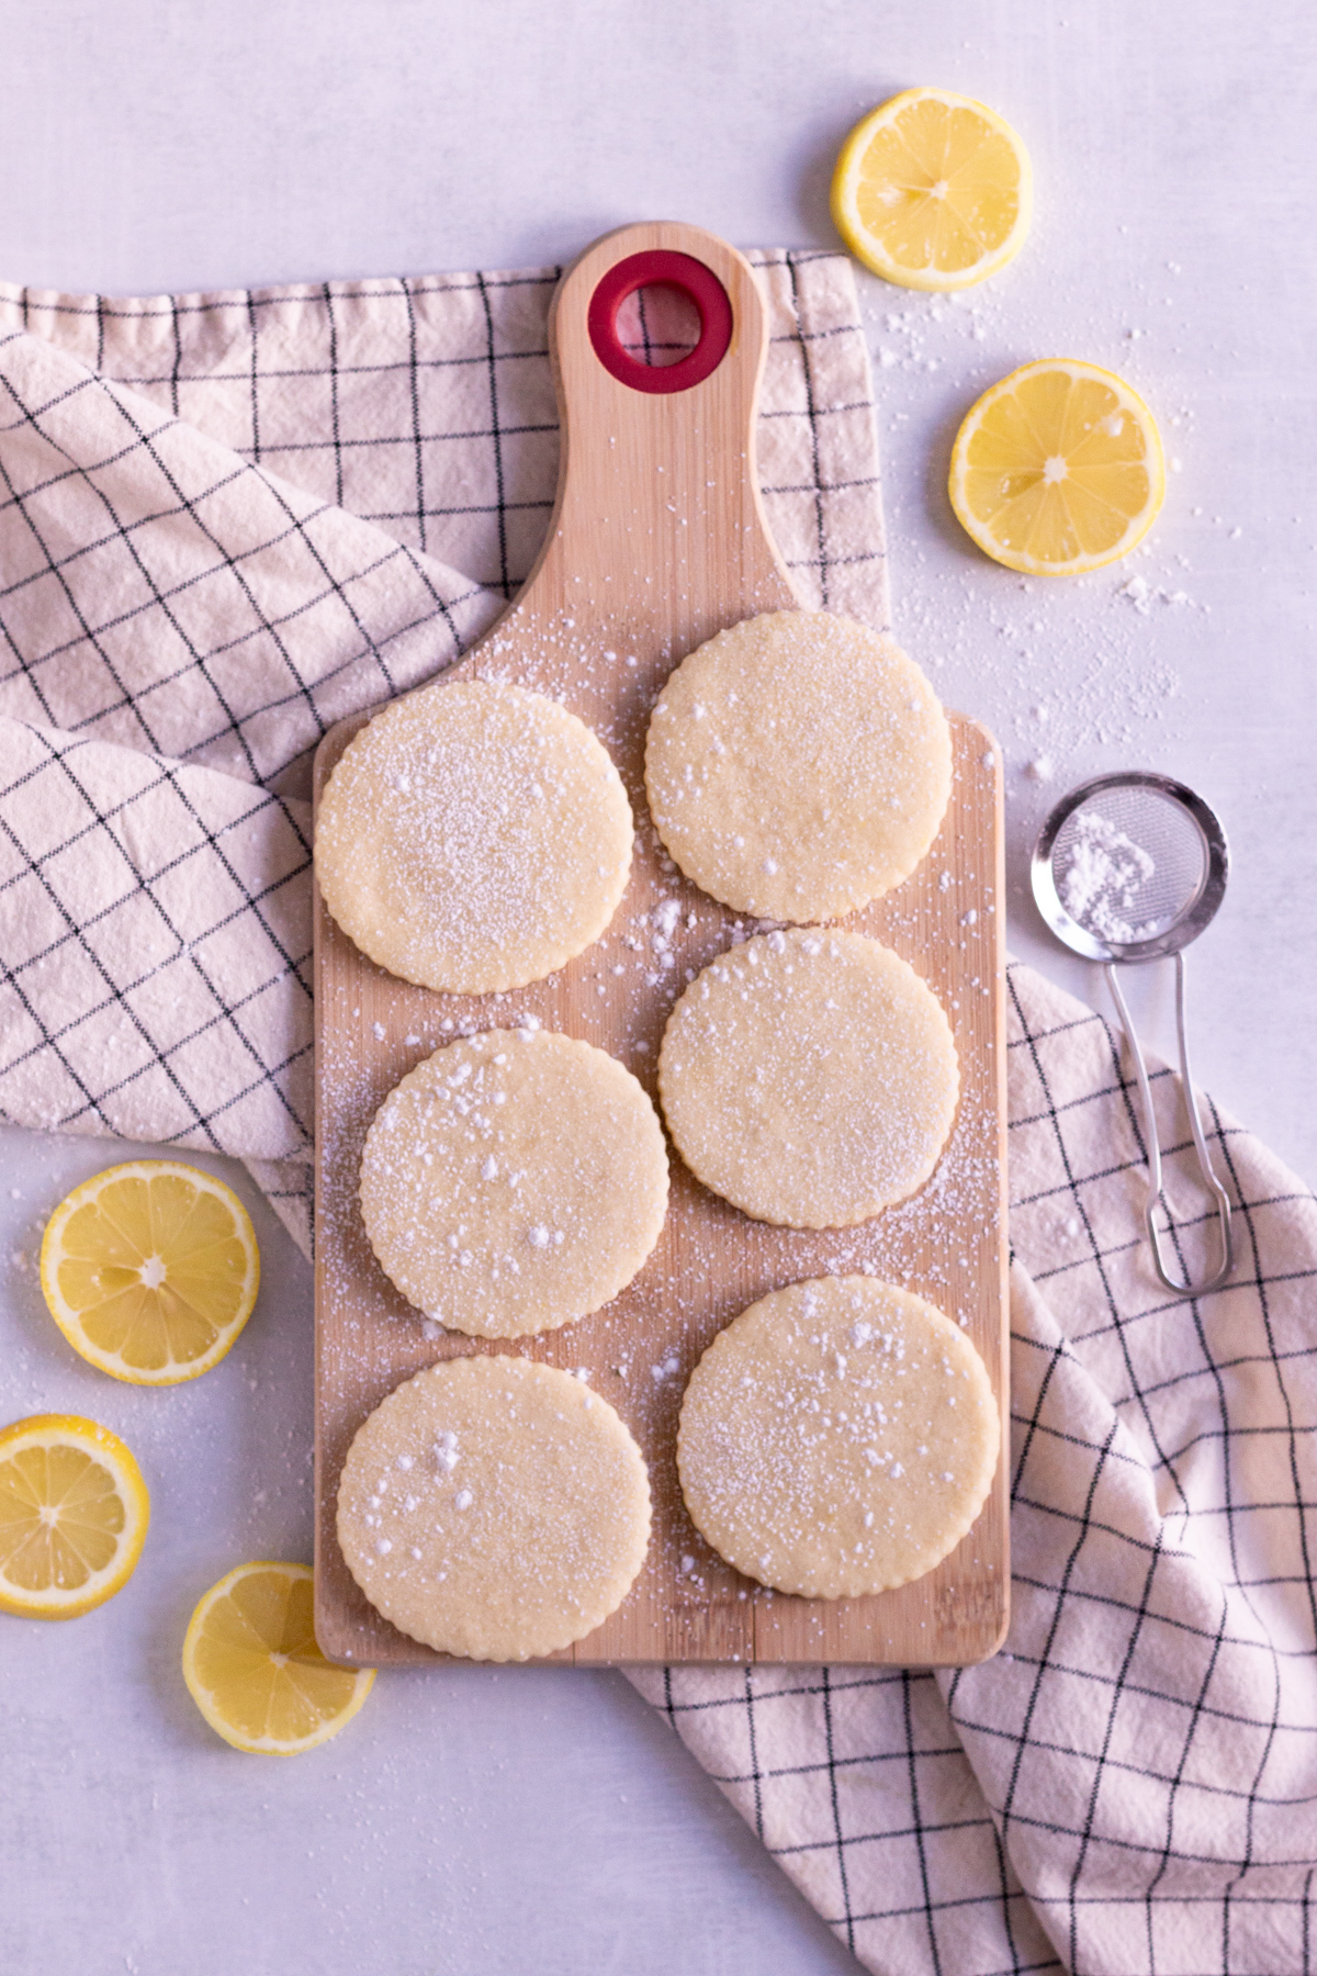
[[[618,308],[648,285],[683,288],[701,314],[697,348],[669,368],[640,364],[616,332]],[[644,618],[679,656],[742,617],[800,609],[754,460],[766,346],[758,277],[713,233],[648,221],[581,255],[549,316],[557,504],[504,638],[579,607]]]

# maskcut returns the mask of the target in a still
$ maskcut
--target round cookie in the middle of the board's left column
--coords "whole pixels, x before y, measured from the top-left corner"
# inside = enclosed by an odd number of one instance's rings
[[[551,1029],[446,1043],[389,1093],[361,1152],[385,1275],[428,1318],[519,1338],[618,1294],[667,1213],[667,1148],[632,1073]]]

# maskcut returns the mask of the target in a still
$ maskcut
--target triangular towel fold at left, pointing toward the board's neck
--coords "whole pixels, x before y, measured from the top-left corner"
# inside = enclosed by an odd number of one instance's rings
[[[0,342],[0,711],[294,794],[504,603],[36,336]]]

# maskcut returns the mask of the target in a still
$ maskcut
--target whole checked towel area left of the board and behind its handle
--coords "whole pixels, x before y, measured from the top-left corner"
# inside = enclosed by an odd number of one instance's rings
[[[770,306],[770,524],[810,601],[883,628],[849,263],[754,259]],[[0,288],[0,723],[24,763],[43,735],[49,753],[39,781],[16,775],[0,798],[2,1116],[239,1154],[310,1245],[306,941],[272,943],[265,864],[243,891],[229,810],[251,804],[253,782],[269,792],[247,832],[278,865],[278,909],[306,913],[304,844],[296,869],[272,850],[296,810],[278,798],[306,794],[328,725],[442,670],[525,577],[557,480],[555,281],[140,300]],[[75,743],[91,745],[79,763],[103,798],[77,786]],[[235,781],[247,786],[231,796]],[[178,818],[160,810],[166,792]],[[130,820],[150,804],[188,846],[190,895],[225,901],[223,925],[180,935],[186,964],[164,950],[162,909],[182,879],[154,871]],[[126,956],[134,939],[150,956],[140,976],[103,950]],[[207,943],[223,948],[211,978]]]

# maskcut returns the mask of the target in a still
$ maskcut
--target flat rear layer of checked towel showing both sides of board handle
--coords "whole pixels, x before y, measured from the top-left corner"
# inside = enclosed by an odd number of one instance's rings
[[[752,253],[770,302],[758,433],[768,522],[802,595],[887,624],[873,391],[845,257]],[[0,287],[0,328],[498,593],[557,484],[547,314],[559,269],[227,294]],[[825,360],[819,360],[827,346]]]

